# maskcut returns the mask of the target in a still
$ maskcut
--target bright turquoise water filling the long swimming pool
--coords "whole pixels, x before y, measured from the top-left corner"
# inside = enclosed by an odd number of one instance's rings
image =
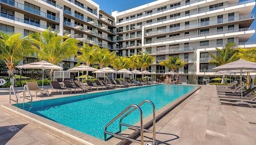
[[[22,107],[24,104],[18,104],[18,107],[104,140],[105,125],[130,104],[151,100],[159,110],[194,88],[196,86],[161,84],[36,101],[32,108]],[[144,118],[152,114],[150,104],[144,104],[141,109]],[[139,120],[139,112],[135,111],[123,122],[135,124]],[[118,123],[117,120],[110,125],[108,131],[117,132]]]

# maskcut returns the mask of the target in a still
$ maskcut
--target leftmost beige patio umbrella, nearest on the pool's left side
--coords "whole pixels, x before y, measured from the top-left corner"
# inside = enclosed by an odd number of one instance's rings
[[[44,70],[45,69],[63,70],[62,67],[54,65],[52,63],[48,63],[47,61],[39,61],[39,62],[35,62],[35,63],[19,65],[19,66],[17,66],[17,68],[20,68],[20,69],[42,69],[43,70],[42,89],[44,88]]]

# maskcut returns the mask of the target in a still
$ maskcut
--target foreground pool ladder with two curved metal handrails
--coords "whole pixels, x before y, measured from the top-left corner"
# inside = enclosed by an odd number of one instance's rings
[[[140,106],[144,103],[150,103],[152,105],[152,109],[153,109],[153,131],[152,130],[148,130],[148,129],[144,129],[144,124],[143,124],[143,112],[140,108]],[[128,113],[126,113],[130,108],[133,108],[132,110],[130,110]],[[132,112],[134,112],[134,110],[138,109],[139,112],[140,112],[140,127],[136,127],[136,126],[133,126],[133,125],[129,125],[129,124],[125,124],[125,123],[122,123],[122,120],[124,118],[126,118],[126,116],[128,116],[129,114],[131,114]],[[153,102],[151,102],[150,100],[144,100],[142,101],[140,104],[136,105],[136,104],[131,104],[129,105],[126,109],[124,109],[120,114],[118,114],[113,120],[111,120],[104,128],[104,139],[105,141],[107,141],[109,138],[107,138],[107,134],[109,135],[112,135],[114,137],[118,137],[120,139],[126,139],[126,140],[129,140],[129,141],[132,141],[132,142],[135,142],[135,143],[140,143],[140,145],[144,145],[144,131],[145,132],[150,132],[150,133],[153,133],[153,143],[152,145],[156,145],[156,109],[155,109],[155,105]],[[125,114],[126,113],[126,114]],[[122,116],[123,114],[125,114],[124,116]],[[122,118],[120,119],[119,121],[119,131],[117,133],[112,133],[112,132],[109,132],[107,131],[107,128],[110,124],[112,124],[114,121],[116,121],[118,118],[120,118],[122,116]],[[127,126],[127,127],[130,127],[130,128],[133,128],[133,129],[138,129],[140,130],[140,138],[141,138],[141,141],[137,141],[136,139],[132,139],[132,138],[129,138],[129,137],[125,137],[123,135],[119,135],[118,133],[120,133],[122,131],[122,125],[124,126]]]

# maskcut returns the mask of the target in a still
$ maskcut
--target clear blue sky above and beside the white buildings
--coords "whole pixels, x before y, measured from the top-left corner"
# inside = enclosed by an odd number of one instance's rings
[[[92,0],[100,5],[100,9],[104,10],[108,14],[111,14],[112,11],[122,12],[136,6],[154,2],[156,0]],[[240,2],[246,0],[240,0]],[[256,13],[256,7],[254,7],[252,13]],[[256,26],[256,21],[252,23],[250,27]],[[256,34],[254,34],[249,41],[256,41]]]

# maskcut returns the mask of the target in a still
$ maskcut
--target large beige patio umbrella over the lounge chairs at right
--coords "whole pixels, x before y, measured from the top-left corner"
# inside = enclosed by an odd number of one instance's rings
[[[229,71],[229,70],[239,70],[240,75],[242,76],[242,72],[244,70],[252,70],[256,69],[256,63],[246,61],[244,59],[240,59],[237,61],[233,61],[231,63],[227,63],[225,65],[221,65],[218,67],[213,68],[215,71]],[[241,86],[242,86],[242,80],[240,80]],[[241,98],[242,98],[242,87],[241,87]]]

